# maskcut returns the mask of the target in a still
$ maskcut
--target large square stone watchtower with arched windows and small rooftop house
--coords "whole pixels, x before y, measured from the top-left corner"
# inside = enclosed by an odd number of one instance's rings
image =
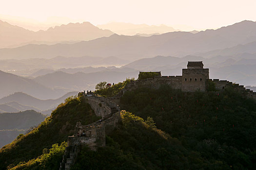
[[[203,62],[188,62],[187,68],[182,69],[182,91],[205,91],[206,80],[209,79],[209,68],[203,68]]]

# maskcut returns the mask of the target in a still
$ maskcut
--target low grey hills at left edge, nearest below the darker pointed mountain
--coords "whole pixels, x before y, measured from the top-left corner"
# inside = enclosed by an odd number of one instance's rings
[[[0,112],[14,113],[25,110],[35,110],[43,114],[50,114],[59,103],[77,94],[77,91],[73,91],[55,100],[40,100],[23,92],[16,92],[0,99]]]

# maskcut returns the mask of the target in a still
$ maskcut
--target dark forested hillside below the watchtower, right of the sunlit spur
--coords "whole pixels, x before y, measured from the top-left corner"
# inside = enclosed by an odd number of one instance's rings
[[[126,92],[121,103],[143,119],[152,117],[187,153],[200,155],[194,155],[192,164],[200,161],[201,169],[256,167],[256,102],[232,87],[207,93],[184,93],[169,86],[141,88]]]

